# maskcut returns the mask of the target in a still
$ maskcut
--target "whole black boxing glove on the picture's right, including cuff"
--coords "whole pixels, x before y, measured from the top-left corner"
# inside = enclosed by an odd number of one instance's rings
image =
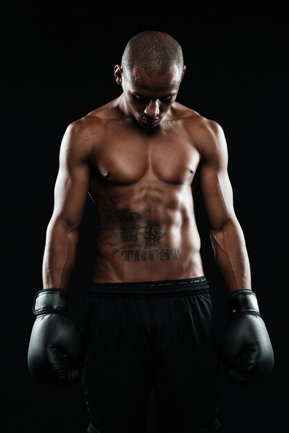
[[[274,353],[256,295],[247,289],[234,291],[228,303],[230,319],[218,347],[225,374],[232,383],[261,383],[270,376]]]

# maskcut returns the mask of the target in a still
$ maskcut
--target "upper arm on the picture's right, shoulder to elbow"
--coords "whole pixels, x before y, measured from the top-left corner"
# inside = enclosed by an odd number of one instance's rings
[[[225,223],[237,223],[233,191],[227,171],[227,142],[222,127],[211,120],[202,129],[199,140],[202,199],[212,230],[219,230]]]

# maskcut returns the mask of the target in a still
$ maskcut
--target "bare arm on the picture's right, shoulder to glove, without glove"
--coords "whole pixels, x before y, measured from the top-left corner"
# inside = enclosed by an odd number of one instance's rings
[[[211,225],[216,263],[230,292],[250,289],[249,258],[243,230],[234,211],[225,135],[216,122],[208,123],[209,129],[200,133],[200,187]]]

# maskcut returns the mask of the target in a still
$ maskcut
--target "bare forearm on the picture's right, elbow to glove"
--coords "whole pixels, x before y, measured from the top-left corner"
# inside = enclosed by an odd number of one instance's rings
[[[211,243],[220,273],[229,291],[251,288],[249,257],[243,230],[238,222],[211,230]]]

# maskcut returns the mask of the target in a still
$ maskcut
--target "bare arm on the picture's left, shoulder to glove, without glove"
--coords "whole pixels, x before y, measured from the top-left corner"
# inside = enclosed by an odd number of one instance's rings
[[[78,227],[89,189],[90,149],[78,122],[69,125],[60,146],[54,209],[46,231],[43,287],[67,288],[76,259]]]

